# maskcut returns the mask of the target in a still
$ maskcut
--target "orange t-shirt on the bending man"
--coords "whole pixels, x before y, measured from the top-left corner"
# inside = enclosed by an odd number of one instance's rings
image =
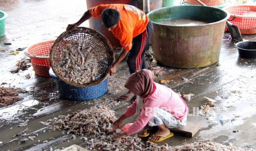
[[[146,30],[146,25],[149,22],[148,16],[146,16],[144,11],[126,4],[102,4],[90,8],[89,13],[94,18],[100,19],[101,12],[106,8],[114,8],[119,11],[120,21],[111,32],[120,40],[124,49],[132,49],[133,38]]]

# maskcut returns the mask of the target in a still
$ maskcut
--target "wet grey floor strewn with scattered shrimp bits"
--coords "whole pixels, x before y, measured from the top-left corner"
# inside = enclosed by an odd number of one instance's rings
[[[118,73],[109,78],[108,94],[91,101],[68,101],[58,98],[56,84],[51,78],[38,77],[32,67],[19,73],[10,73],[18,60],[24,57],[23,52],[9,55],[17,48],[29,47],[32,44],[56,39],[68,24],[77,21],[86,10],[85,1],[68,0],[3,0],[0,10],[6,11],[9,17],[6,21],[6,36],[0,38],[0,47],[7,51],[0,52],[0,83],[2,86],[14,86],[28,91],[19,101],[0,109],[0,150],[48,150],[61,149],[72,144],[86,147],[83,140],[70,135],[63,136],[60,131],[48,131],[47,126],[40,124],[92,106],[94,103],[106,104],[117,112],[119,117],[130,102],[116,102],[115,98],[126,90],[123,88],[128,76],[126,62],[119,66]],[[81,26],[88,26],[85,22]],[[244,36],[246,40],[256,40],[256,35]],[[12,43],[4,45],[3,43]],[[171,146],[192,143],[195,141],[215,141],[222,144],[256,149],[256,60],[241,59],[233,42],[223,40],[219,64],[196,69],[170,69],[162,77],[171,82],[167,85],[181,94],[193,93],[195,96],[187,104],[189,106],[189,121],[200,123],[200,130],[194,138],[175,134],[174,137],[160,144]],[[25,75],[29,74],[30,79]],[[182,78],[187,78],[184,81]],[[221,97],[208,115],[199,115],[199,107],[205,98]],[[133,121],[135,117],[126,121]],[[222,121],[222,124],[220,123]],[[20,123],[28,124],[18,127]],[[19,144],[23,136],[13,137],[20,131],[27,136],[36,136],[32,141]],[[238,131],[237,131],[238,130]],[[236,131],[236,132],[235,132]],[[50,139],[50,138],[55,138]],[[47,142],[48,141],[48,142]]]

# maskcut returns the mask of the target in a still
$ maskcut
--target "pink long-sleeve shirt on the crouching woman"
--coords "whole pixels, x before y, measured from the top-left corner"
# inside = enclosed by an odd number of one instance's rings
[[[182,120],[188,109],[184,100],[170,88],[153,82],[152,93],[144,98],[144,105],[137,120],[126,130],[128,135],[139,132],[149,122],[156,108],[162,108],[170,112],[173,117]],[[130,105],[124,115],[131,117],[136,113],[137,101]]]

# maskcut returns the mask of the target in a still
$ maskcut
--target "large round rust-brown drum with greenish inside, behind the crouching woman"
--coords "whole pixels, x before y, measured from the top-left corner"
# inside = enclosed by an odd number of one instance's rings
[[[165,7],[148,14],[154,25],[152,49],[162,65],[197,68],[219,60],[226,20],[224,10],[200,5]],[[202,25],[167,25],[165,20],[204,20]]]

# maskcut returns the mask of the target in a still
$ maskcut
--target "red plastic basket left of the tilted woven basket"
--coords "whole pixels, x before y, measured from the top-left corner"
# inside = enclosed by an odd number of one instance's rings
[[[31,59],[31,64],[36,75],[50,77],[50,51],[54,42],[55,40],[38,43],[32,45],[25,51],[25,55]]]

